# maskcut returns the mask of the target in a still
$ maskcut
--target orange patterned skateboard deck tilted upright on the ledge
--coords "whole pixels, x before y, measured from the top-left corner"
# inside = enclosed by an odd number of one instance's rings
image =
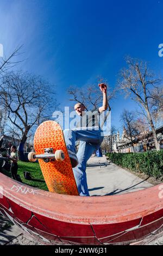
[[[64,134],[60,125],[55,121],[43,122],[35,132],[34,149],[36,155],[45,153],[47,148],[53,149],[54,153],[56,150],[62,150],[65,156],[61,162],[56,160],[45,162],[43,159],[39,159],[48,190],[59,194],[79,196]]]

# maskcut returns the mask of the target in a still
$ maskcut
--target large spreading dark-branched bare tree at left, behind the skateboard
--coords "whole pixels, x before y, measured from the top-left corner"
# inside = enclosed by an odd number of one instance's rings
[[[51,88],[51,90],[49,90]],[[40,76],[18,71],[10,72],[0,86],[1,105],[8,110],[10,131],[25,143],[48,113],[55,111],[57,102],[53,89]]]

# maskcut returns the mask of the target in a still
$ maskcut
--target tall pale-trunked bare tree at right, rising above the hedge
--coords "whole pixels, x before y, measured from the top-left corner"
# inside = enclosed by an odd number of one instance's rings
[[[126,62],[128,68],[121,71],[118,87],[126,93],[126,96],[130,96],[131,99],[138,103],[143,109],[152,129],[155,148],[159,150],[160,145],[156,137],[155,126],[150,110],[150,100],[155,99],[153,89],[158,88],[157,86],[161,80],[155,77],[152,71],[149,71],[146,62],[130,57],[126,58]]]

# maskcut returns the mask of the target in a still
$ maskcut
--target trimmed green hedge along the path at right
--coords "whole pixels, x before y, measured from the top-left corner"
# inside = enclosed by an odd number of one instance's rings
[[[109,160],[123,168],[145,173],[155,179],[163,175],[163,150],[145,153],[107,153]]]

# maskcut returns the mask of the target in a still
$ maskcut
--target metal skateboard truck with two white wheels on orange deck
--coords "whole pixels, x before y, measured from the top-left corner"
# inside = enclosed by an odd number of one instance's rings
[[[35,162],[37,159],[42,159],[44,162],[48,163],[50,160],[61,162],[65,159],[65,155],[62,150],[56,150],[54,153],[53,148],[47,148],[44,152],[44,154],[40,155],[36,155],[35,152],[30,152],[28,154],[28,160],[30,162]]]

